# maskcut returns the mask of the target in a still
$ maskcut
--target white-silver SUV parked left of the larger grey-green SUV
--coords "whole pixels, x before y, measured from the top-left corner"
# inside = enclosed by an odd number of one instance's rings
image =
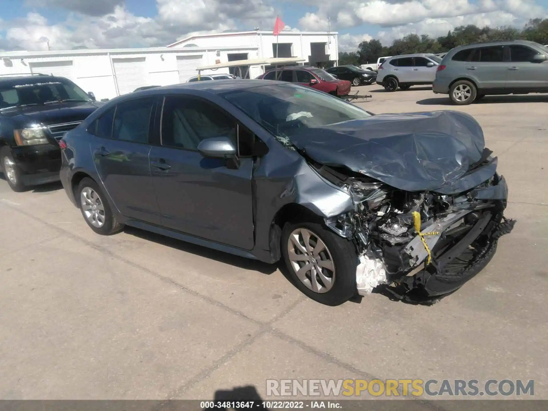
[[[415,84],[432,84],[442,61],[433,54],[406,54],[386,59],[379,66],[376,83],[387,92],[407,90]]]

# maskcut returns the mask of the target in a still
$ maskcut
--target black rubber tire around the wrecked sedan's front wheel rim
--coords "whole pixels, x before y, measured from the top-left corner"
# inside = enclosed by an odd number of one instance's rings
[[[333,286],[327,292],[317,293],[307,287],[299,279],[293,269],[289,260],[288,242],[289,236],[296,229],[306,229],[312,233],[310,244],[313,242],[317,244],[317,238],[319,238],[327,247],[327,255],[330,254],[335,269]],[[321,304],[335,306],[343,304],[356,295],[356,267],[358,257],[356,254],[356,247],[352,241],[336,235],[324,225],[316,222],[288,222],[283,228],[280,246],[282,248],[283,261],[284,264],[286,264],[291,281],[294,283],[295,287],[311,299]],[[298,264],[304,265],[307,264],[307,262],[299,261]],[[321,270],[326,276],[333,274],[327,269],[321,268]],[[316,276],[316,278],[319,278],[319,276]],[[311,280],[311,278],[309,278],[309,280]]]

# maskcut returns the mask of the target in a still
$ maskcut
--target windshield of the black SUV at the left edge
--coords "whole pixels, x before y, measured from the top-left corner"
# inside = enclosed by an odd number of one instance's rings
[[[53,79],[33,83],[31,79],[0,84],[0,109],[28,105],[52,104],[58,101],[92,101],[76,84]]]

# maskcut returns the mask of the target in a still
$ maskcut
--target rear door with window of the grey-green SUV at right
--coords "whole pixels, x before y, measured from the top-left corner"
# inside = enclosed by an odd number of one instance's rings
[[[478,47],[466,62],[467,73],[476,80],[479,89],[506,87],[508,64],[504,62],[504,46]]]

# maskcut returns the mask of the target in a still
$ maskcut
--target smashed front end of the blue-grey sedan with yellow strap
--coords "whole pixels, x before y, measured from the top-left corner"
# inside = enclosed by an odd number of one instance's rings
[[[458,194],[395,189],[368,176],[316,163],[346,190],[354,209],[325,220],[355,242],[358,293],[387,284],[396,298],[432,299],[463,286],[488,264],[515,221],[503,216],[507,186],[494,174]]]

